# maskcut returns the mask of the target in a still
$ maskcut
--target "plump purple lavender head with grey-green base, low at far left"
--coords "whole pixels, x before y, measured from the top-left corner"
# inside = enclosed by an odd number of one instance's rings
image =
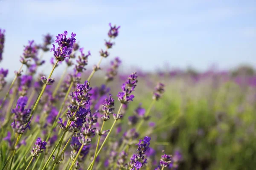
[[[18,134],[25,132],[26,128],[30,129],[30,122],[28,122],[30,109],[25,109],[28,98],[26,96],[20,96],[16,108],[12,110],[15,113],[14,122],[12,123],[12,128]]]

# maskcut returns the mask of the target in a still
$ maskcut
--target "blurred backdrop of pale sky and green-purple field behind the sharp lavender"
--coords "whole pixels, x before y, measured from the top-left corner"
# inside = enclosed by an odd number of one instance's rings
[[[105,82],[106,68],[117,56],[122,64],[108,84],[112,94],[137,71],[139,83],[128,116],[140,103],[149,107],[157,82],[166,85],[143,126],[157,150],[149,159],[159,161],[161,150],[176,150],[182,154],[180,170],[253,170],[255,17],[255,0],[0,0],[0,28],[6,29],[0,67],[9,69],[11,81],[28,40],[41,44],[43,35],[67,30],[69,35],[76,33],[80,47],[92,54],[87,77],[108,40],[108,24],[121,26],[103,70],[91,83],[100,87]],[[38,72],[49,72],[51,57],[52,52],[44,53],[46,64]],[[65,63],[59,65],[53,77],[58,79],[64,68]],[[150,122],[154,125],[148,128]]]

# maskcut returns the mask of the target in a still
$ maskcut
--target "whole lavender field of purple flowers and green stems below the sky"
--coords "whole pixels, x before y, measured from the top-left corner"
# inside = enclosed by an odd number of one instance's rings
[[[122,58],[108,59],[119,30],[110,24],[93,68],[90,51],[67,31],[29,41],[15,73],[1,65],[0,168],[254,169],[253,68],[127,73]],[[0,60],[4,44],[0,29]],[[102,60],[110,64],[101,68]],[[41,72],[47,62],[52,69]],[[66,69],[53,78],[58,65]]]

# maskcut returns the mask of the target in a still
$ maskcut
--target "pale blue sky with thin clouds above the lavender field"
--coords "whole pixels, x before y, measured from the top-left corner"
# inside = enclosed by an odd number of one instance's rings
[[[255,0],[0,0],[0,28],[6,29],[0,67],[13,72],[28,40],[40,43],[43,34],[64,30],[77,34],[93,65],[110,22],[121,28],[105,64],[119,56],[124,67],[144,70],[167,63],[199,70],[255,67],[255,21]],[[44,57],[49,61],[52,54]]]

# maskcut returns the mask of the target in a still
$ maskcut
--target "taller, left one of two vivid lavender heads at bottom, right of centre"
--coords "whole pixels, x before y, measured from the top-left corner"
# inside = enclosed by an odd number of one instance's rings
[[[147,163],[147,159],[145,159],[144,155],[149,149],[150,139],[150,137],[145,136],[143,140],[140,139],[140,142],[136,144],[138,145],[137,154],[133,154],[133,156],[131,156],[128,164],[130,170],[139,170]]]

